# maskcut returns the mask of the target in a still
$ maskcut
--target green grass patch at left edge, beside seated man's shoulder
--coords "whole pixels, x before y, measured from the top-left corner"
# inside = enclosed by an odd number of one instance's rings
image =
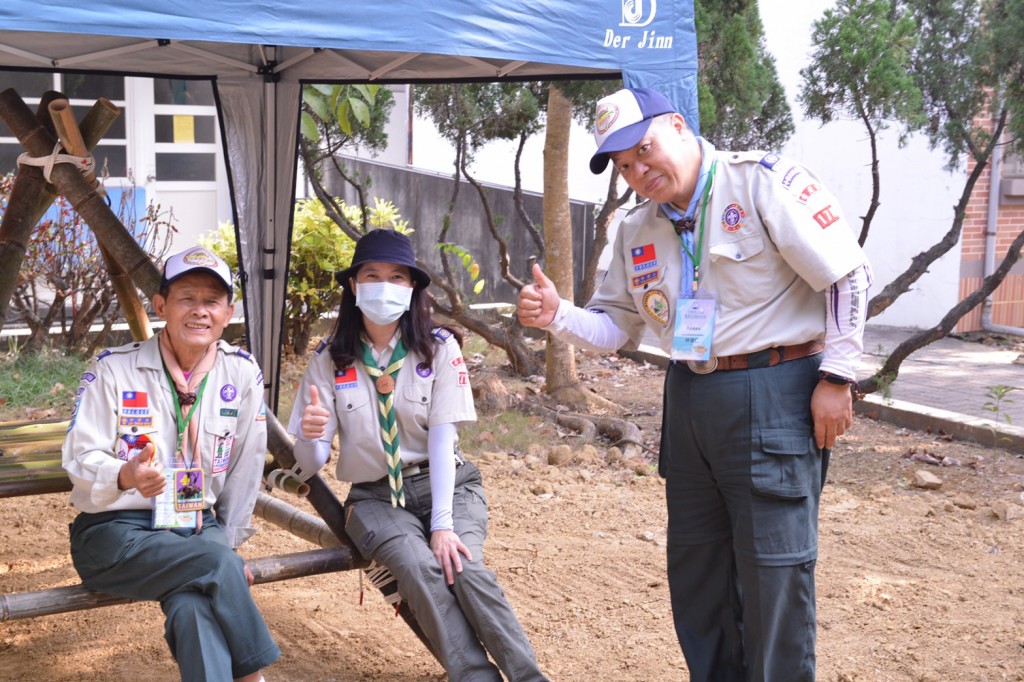
[[[88,360],[58,350],[0,355],[0,421],[25,419],[26,408],[70,417]]]

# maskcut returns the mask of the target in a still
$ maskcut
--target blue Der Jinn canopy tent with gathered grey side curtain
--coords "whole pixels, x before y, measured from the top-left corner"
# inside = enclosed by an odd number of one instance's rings
[[[692,0],[6,0],[0,69],[213,80],[246,324],[270,387],[280,369],[303,83],[621,74],[628,85],[658,88],[691,125],[697,121]]]

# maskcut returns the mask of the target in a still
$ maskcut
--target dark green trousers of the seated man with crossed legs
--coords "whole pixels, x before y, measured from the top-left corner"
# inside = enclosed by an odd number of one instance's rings
[[[269,666],[281,649],[253,602],[242,557],[212,512],[194,534],[154,530],[148,510],[79,514],[71,555],[90,590],[160,602],[165,639],[184,682],[229,682]]]

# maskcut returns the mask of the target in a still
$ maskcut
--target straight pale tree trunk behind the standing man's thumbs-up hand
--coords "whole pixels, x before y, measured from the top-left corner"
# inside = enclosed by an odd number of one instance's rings
[[[555,86],[548,88],[548,126],[544,137],[544,242],[547,274],[562,298],[572,300],[572,220],[569,215],[568,147],[572,108]],[[575,350],[548,335],[545,377],[548,392],[577,383]]]

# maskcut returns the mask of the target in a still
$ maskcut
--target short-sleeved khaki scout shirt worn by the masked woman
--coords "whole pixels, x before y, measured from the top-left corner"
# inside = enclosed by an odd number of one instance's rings
[[[423,364],[412,350],[395,376],[394,410],[398,425],[398,447],[403,465],[427,459],[427,432],[436,424],[476,421],[469,371],[459,342],[444,329],[434,331],[433,366]],[[308,401],[309,386],[315,385],[321,404],[334,415],[321,440],[331,442],[338,434],[339,480],[366,483],[387,475],[387,457],[381,441],[377,389],[362,363],[336,370],[330,341],[313,351],[289,423],[291,433],[301,433],[302,406]]]

